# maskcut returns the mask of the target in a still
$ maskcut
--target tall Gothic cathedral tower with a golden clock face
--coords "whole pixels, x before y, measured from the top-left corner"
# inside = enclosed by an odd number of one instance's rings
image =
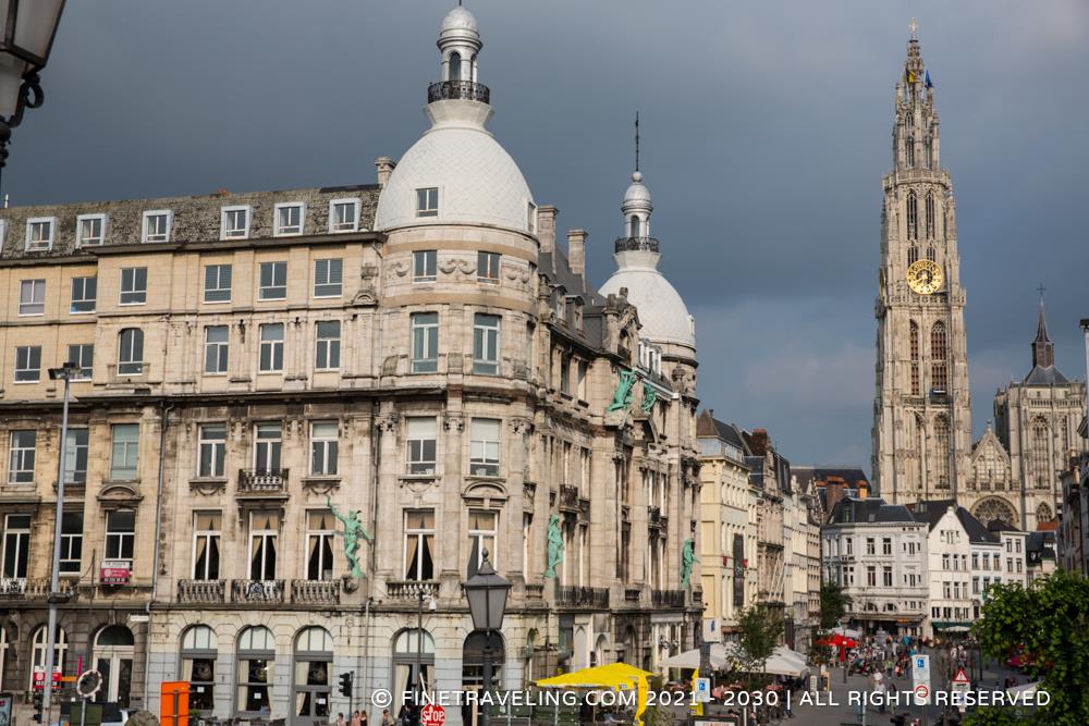
[[[953,185],[940,164],[934,89],[914,20],[895,111],[874,306],[872,465],[881,495],[906,503],[956,497],[971,446]]]

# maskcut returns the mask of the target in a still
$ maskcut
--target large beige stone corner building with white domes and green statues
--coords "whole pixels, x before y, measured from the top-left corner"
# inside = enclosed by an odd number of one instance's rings
[[[586,234],[556,243],[555,208],[485,128],[481,46],[451,11],[430,128],[378,184],[0,214],[3,688],[42,660],[60,451],[42,369],[69,359],[58,650],[65,674],[105,664],[110,698],[156,710],[184,679],[197,712],[316,724],[348,710],[341,673],[357,702],[479,688],[460,585],[486,550],[513,585],[504,687],[694,645],[693,323],[648,339],[643,282],[596,292]],[[645,263],[636,186],[616,246]]]

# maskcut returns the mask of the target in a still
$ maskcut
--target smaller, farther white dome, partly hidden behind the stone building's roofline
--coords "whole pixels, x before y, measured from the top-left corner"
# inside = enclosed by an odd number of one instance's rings
[[[696,348],[696,332],[688,308],[681,294],[658,270],[632,267],[617,270],[599,292],[602,295],[619,295],[621,287],[627,287],[627,302],[638,309],[643,324],[640,336],[651,343],[675,343]]]

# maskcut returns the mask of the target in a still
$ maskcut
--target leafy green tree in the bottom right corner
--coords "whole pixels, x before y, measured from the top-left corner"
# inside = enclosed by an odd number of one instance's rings
[[[1089,724],[1089,580],[1064,570],[1028,588],[995,585],[972,626],[983,652],[1005,661],[1015,649],[1032,659],[1032,676],[1051,702],[1017,723],[1049,726]],[[1017,714],[1010,706],[980,709],[966,724],[1004,726]]]

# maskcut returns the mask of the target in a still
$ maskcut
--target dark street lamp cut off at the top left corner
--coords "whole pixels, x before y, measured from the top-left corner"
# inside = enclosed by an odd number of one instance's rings
[[[7,0],[0,10],[0,169],[23,111],[41,106],[41,78],[65,0]]]

